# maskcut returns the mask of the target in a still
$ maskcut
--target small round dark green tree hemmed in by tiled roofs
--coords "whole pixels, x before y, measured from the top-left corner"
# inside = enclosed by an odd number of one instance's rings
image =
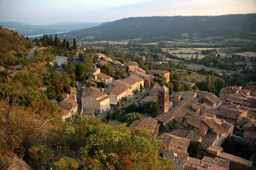
[[[197,141],[189,144],[188,153],[190,157],[197,159],[202,159],[206,156],[203,144]]]

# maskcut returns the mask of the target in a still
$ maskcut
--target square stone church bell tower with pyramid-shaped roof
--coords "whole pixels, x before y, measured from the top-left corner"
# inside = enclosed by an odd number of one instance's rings
[[[156,116],[169,110],[169,89],[164,85],[158,89]]]

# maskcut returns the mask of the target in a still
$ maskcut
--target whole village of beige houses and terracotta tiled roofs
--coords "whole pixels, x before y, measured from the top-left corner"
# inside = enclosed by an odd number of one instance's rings
[[[255,86],[222,88],[219,97],[201,90],[180,91],[169,95],[169,89],[153,79],[154,73],[159,73],[169,81],[170,72],[148,70],[149,73],[146,74],[136,62],[122,64],[103,54],[95,55],[100,66],[112,63],[118,68],[128,68],[129,76],[115,80],[93,66],[85,85],[77,89],[81,90],[81,99],[76,99],[76,88],[71,88],[70,94],[63,95],[64,100],[58,103],[64,110],[63,121],[77,112],[77,100],[82,103],[81,115],[95,116],[110,113],[111,108],[113,112],[122,108],[122,102],[141,91],[140,99],[133,101],[137,105],[143,105],[157,100],[156,112],[150,117],[135,120],[129,128],[147,129],[152,137],[161,139],[167,149],[159,151],[159,157],[172,160],[177,169],[252,168],[252,161],[226,153],[221,145],[231,135],[243,143],[249,143],[253,149],[256,140]],[[97,82],[102,82],[105,88],[96,88]],[[180,84],[190,87],[195,85],[184,80],[180,80]],[[107,122],[109,126],[121,124],[117,120]],[[204,146],[207,156],[202,160],[189,157],[188,146],[194,142],[200,142]]]

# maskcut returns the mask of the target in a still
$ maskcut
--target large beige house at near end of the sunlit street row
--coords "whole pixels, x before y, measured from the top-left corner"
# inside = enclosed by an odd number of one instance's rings
[[[99,110],[100,113],[106,112],[110,109],[110,99],[102,90],[90,90],[82,94],[82,111],[84,109]]]

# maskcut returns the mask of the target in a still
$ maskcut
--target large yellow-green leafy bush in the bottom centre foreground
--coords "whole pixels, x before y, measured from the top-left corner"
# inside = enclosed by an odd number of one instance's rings
[[[82,159],[90,157],[90,169],[172,169],[166,159],[159,159],[159,140],[146,130],[130,131],[124,124],[106,126],[95,117],[75,115],[77,124],[68,122],[65,140],[79,149]],[[78,141],[78,143],[76,142]]]

